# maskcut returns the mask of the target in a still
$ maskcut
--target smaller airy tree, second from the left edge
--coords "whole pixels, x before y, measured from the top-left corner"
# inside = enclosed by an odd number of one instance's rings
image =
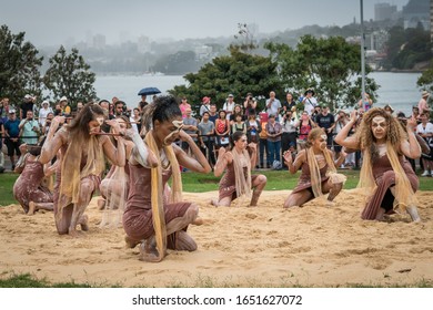
[[[95,74],[90,72],[90,65],[79,55],[77,49],[67,54],[63,45],[49,60],[50,68],[43,76],[43,83],[54,99],[67,96],[72,107],[77,102],[90,102],[97,99],[93,83]]]

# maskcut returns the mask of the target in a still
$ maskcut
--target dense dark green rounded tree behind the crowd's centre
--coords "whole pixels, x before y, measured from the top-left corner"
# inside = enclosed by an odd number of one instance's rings
[[[268,96],[270,91],[280,89],[280,80],[275,71],[276,64],[270,58],[251,55],[232,48],[230,55],[213,59],[198,73],[189,73],[184,79],[189,85],[178,85],[169,93],[187,95],[195,111],[200,108],[201,99],[210,96],[221,108],[229,93],[234,101],[243,104],[246,93],[256,97]],[[260,108],[264,104],[261,102]]]

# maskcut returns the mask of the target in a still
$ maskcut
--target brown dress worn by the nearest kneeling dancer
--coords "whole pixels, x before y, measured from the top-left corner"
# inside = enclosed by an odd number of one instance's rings
[[[154,235],[151,207],[151,169],[141,165],[129,164],[129,170],[130,188],[123,214],[123,228],[129,238],[139,242]],[[162,169],[163,188],[171,177],[171,167]],[[191,203],[168,204],[165,199],[167,197],[164,196],[165,224],[177,217],[183,216],[191,206]],[[183,230],[187,231],[187,228],[188,226]],[[182,248],[178,245],[178,232],[168,236],[167,247],[177,250],[194,250],[192,248]]]

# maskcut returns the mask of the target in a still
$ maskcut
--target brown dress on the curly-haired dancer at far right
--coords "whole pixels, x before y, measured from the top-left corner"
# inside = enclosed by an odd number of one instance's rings
[[[399,162],[415,193],[419,188],[419,178],[413,172],[411,164],[403,156],[399,156]],[[372,168],[377,187],[361,214],[362,219],[376,219],[380,208],[385,209],[386,214],[394,213],[394,196],[390,188],[395,185],[395,173],[391,166],[390,159],[386,155],[383,155],[373,163]]]

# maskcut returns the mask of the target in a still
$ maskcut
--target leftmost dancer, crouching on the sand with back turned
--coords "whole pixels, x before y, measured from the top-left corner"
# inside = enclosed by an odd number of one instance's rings
[[[33,215],[39,209],[52,210],[52,193],[44,180],[54,173],[58,162],[42,165],[39,161],[40,145],[21,144],[20,151],[21,157],[14,169],[20,176],[13,185],[13,197],[28,215]]]

